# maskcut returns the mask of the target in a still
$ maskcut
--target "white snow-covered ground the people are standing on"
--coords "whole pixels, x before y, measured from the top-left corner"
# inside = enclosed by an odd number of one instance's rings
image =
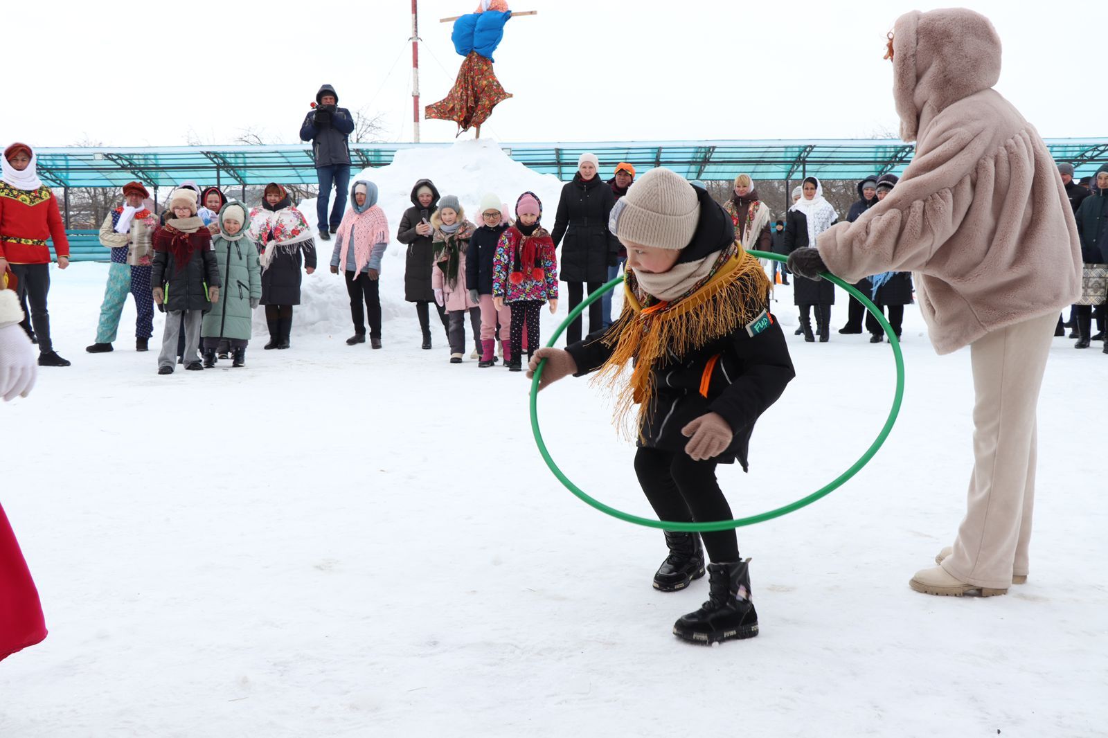
[[[654,591],[660,532],[558,485],[522,373],[449,365],[441,331],[420,350],[401,256],[382,274],[383,350],[346,346],[346,290],[325,267],[290,350],[261,351],[256,326],[245,369],[170,377],[132,350],[130,304],[116,351],[83,351],[106,265],[53,271],[73,366],[0,408],[0,500],[50,636],[0,664],[0,736],[1108,730],[1099,344],[1055,339],[1026,585],[988,599],[907,587],[952,542],[972,463],[968,352],[936,357],[912,307],[889,442],[824,500],[740,529],[761,633],[704,648],[670,627],[707,580]],[[888,345],[804,344],[788,289],[779,299],[798,377],[759,422],[750,473],[721,469],[738,515],[835,476],[892,397]],[[561,314],[544,314],[547,336]],[[540,412],[571,478],[649,514],[634,449],[588,382],[553,387]]]

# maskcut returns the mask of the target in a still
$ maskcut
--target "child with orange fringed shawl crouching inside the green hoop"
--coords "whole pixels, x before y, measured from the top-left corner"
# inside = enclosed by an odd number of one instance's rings
[[[542,389],[599,370],[617,392],[619,419],[639,407],[635,471],[658,517],[730,520],[716,465],[737,459],[747,468],[755,422],[794,376],[769,314],[769,278],[736,243],[724,208],[680,175],[652,170],[620,202],[629,203],[613,217],[627,247],[623,315],[565,350],[540,349],[530,373],[546,360]],[[704,644],[757,635],[735,530],[665,536],[669,556],[656,588],[684,588],[704,575],[700,537],[711,560],[709,601],[679,618],[674,634]]]

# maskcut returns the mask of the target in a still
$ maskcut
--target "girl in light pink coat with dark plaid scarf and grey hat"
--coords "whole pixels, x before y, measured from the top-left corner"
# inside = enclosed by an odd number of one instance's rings
[[[447,309],[447,335],[450,338],[450,362],[461,363],[465,353],[465,314],[470,315],[473,340],[481,352],[481,304],[470,298],[465,286],[465,252],[470,248],[473,224],[454,195],[439,199],[439,209],[431,216],[434,266],[431,288],[434,301]]]

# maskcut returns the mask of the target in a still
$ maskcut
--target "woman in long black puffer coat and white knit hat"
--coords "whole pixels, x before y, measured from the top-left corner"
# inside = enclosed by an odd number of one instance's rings
[[[607,281],[608,267],[619,263],[619,242],[608,232],[608,216],[616,196],[596,170],[596,155],[582,154],[577,174],[562,187],[554,232],[551,234],[554,247],[562,246],[558,276],[566,283],[571,310],[584,299],[584,286],[592,295]],[[596,300],[588,306],[588,332],[597,331],[603,326],[604,306]],[[579,317],[570,324],[565,337],[566,345],[581,340]]]

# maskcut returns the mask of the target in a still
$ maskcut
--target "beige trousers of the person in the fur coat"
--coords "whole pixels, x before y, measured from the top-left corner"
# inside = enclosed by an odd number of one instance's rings
[[[1026,575],[1035,506],[1036,408],[1058,317],[1050,312],[970,345],[973,475],[966,516],[943,568],[962,582],[1006,590]]]

